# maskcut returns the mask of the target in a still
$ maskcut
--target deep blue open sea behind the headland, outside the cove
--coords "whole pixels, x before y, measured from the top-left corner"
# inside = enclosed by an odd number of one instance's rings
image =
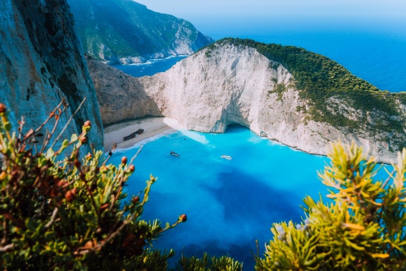
[[[197,20],[195,25],[216,40],[239,37],[303,47],[337,61],[381,90],[406,91],[405,22],[240,18]],[[115,67],[132,76],[153,75],[169,69],[180,59]]]

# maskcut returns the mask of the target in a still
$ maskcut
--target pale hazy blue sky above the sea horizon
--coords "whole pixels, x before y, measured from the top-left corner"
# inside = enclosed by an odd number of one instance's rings
[[[136,0],[148,8],[193,21],[203,17],[301,16],[402,20],[406,0]]]

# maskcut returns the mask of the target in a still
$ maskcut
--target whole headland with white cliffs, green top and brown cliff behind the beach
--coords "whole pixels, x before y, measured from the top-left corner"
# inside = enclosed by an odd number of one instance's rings
[[[329,143],[341,139],[363,145],[381,162],[393,161],[406,142],[405,93],[378,90],[328,58],[302,48],[275,46],[226,39],[166,72],[141,78],[102,64],[90,68],[93,80],[104,82],[95,83],[99,100],[111,101],[105,110],[125,111],[119,114],[122,118],[102,117],[103,123],[163,115],[187,129],[214,133],[225,132],[229,124],[241,124],[312,154],[326,155]],[[300,55],[304,55],[302,68],[289,63],[289,58]],[[307,63],[308,59],[314,63]],[[96,65],[94,60],[89,62],[90,67]],[[309,65],[316,67],[310,73],[319,77],[313,78],[316,82],[329,75],[318,84],[330,89],[306,81]],[[128,86],[125,91],[122,85]],[[352,92],[348,86],[354,88]],[[131,107],[129,101],[133,101]]]

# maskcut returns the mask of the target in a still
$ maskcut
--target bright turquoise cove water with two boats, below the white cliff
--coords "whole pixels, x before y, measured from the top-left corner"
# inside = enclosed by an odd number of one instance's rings
[[[138,148],[113,154],[113,163],[120,163],[123,155],[134,156]],[[220,158],[223,154],[233,159]],[[243,261],[245,270],[253,270],[250,251],[256,251],[255,240],[263,254],[272,223],[300,222],[302,199],[327,193],[316,176],[326,161],[240,126],[228,127],[225,134],[185,130],[146,143],[126,189],[129,196],[136,195],[152,173],[158,181],[143,219],[174,223],[180,214],[187,214],[187,222],[166,232],[155,248],[174,248],[175,258],[182,251],[228,254]]]

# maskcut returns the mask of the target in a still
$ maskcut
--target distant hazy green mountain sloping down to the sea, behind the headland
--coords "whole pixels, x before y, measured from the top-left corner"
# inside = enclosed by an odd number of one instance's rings
[[[109,64],[190,55],[213,40],[133,0],[68,0],[86,53]]]

